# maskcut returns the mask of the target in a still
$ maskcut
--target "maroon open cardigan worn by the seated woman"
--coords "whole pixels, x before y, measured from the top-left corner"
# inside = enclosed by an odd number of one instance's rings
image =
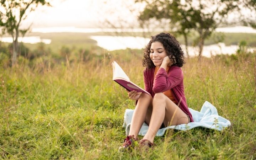
[[[175,98],[176,102],[180,102],[179,107],[183,112],[185,112],[190,117],[190,122],[194,122],[192,114],[188,110],[186,98],[184,95],[184,85],[183,85],[183,72],[178,66],[170,66],[168,74],[164,68],[160,68],[155,75],[155,68],[144,69],[144,85],[145,90],[148,91],[152,97],[155,93],[164,92],[171,90],[172,96]]]

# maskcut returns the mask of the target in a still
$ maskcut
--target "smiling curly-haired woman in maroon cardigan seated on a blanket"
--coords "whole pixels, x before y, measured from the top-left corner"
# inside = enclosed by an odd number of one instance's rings
[[[144,122],[149,129],[139,145],[146,147],[153,145],[159,129],[193,122],[184,95],[180,68],[184,63],[184,53],[174,36],[169,33],[151,36],[143,59],[145,90],[151,96],[137,91],[128,92],[129,98],[136,100],[136,107],[129,135],[120,149],[130,148],[138,140]]]

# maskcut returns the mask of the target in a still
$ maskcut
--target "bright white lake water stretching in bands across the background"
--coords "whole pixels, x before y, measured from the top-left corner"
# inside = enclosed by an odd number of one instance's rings
[[[126,29],[113,29],[113,28],[76,28],[76,27],[48,27],[48,28],[33,28],[32,32],[41,33],[60,33],[60,32],[71,32],[71,33],[96,33],[96,32],[143,32],[147,31],[142,28],[126,28]],[[162,32],[162,29],[156,29],[154,31]],[[236,27],[223,27],[216,28],[216,32],[226,32],[226,33],[256,33],[256,30],[251,27],[246,26],[236,26]],[[91,39],[97,41],[97,45],[105,48],[106,50],[112,51],[117,49],[143,49],[146,44],[150,41],[149,38],[143,37],[131,37],[131,36],[91,36]],[[12,43],[11,37],[0,38],[2,42]],[[46,44],[51,43],[51,39],[41,39],[39,36],[33,37],[19,37],[19,42],[23,43],[39,43],[43,42]],[[181,46],[185,52],[185,46]],[[224,43],[213,44],[209,46],[204,46],[202,55],[205,57],[211,57],[211,55],[216,54],[233,54],[236,53],[238,46],[231,45],[225,46]],[[250,48],[252,52],[255,48]],[[198,55],[197,47],[188,47],[188,53],[191,56]]]

